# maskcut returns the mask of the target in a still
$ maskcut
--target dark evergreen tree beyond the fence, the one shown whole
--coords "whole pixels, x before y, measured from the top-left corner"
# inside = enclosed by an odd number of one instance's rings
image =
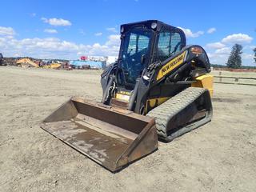
[[[226,65],[229,68],[240,68],[242,66],[241,54],[242,54],[242,46],[239,44],[234,44]]]

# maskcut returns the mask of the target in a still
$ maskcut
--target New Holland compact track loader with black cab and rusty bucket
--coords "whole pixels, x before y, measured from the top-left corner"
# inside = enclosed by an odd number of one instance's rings
[[[117,171],[210,122],[213,77],[201,46],[157,20],[121,26],[118,61],[101,75],[102,102],[70,98],[42,129]]]

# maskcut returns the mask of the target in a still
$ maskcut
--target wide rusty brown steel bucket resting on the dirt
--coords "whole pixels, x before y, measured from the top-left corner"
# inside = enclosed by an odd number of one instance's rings
[[[113,172],[158,147],[154,118],[82,98],[58,107],[41,127]]]

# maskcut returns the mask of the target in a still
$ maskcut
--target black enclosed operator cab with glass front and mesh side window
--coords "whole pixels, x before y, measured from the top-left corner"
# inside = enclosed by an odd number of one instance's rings
[[[133,90],[136,79],[152,62],[164,61],[186,46],[182,30],[157,20],[121,26],[118,85]]]

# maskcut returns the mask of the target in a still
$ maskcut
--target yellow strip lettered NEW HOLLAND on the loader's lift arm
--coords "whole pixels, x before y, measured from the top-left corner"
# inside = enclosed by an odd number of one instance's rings
[[[177,66],[180,66],[185,60],[185,54],[186,50],[182,54],[179,54],[176,58],[170,60],[170,62],[167,62],[166,65],[162,66],[162,68],[158,72],[157,80],[164,77],[171,70],[174,70]]]

